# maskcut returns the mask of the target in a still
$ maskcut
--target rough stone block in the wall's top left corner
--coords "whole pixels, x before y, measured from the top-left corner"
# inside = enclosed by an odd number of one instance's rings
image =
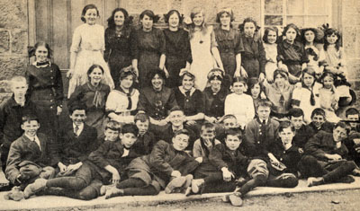
[[[27,30],[26,0],[1,0],[0,11],[0,28]]]

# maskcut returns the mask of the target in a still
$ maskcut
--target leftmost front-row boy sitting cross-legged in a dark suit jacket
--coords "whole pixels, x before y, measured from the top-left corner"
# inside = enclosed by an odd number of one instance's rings
[[[34,115],[23,116],[23,136],[16,139],[10,146],[6,164],[6,177],[14,184],[24,189],[24,198],[30,197],[28,189],[37,178],[49,179],[54,176],[56,163],[52,162],[53,151],[48,139],[38,134],[39,120]]]

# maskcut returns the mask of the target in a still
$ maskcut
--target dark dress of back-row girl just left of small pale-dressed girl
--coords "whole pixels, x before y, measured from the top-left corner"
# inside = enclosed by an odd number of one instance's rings
[[[244,45],[244,52],[241,54],[241,66],[247,71],[248,78],[258,78],[260,73],[265,74],[266,52],[263,42],[254,35],[254,38],[247,38],[241,35]]]

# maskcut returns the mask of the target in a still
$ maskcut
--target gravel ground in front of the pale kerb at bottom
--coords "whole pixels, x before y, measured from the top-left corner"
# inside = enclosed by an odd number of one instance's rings
[[[223,203],[221,198],[208,198],[198,201],[164,202],[157,206],[148,207],[113,207],[96,210],[159,210],[159,211],[228,211],[234,210],[359,210],[360,189],[336,190],[325,192],[307,192],[284,194],[278,196],[260,196],[245,198],[243,207],[232,207]]]

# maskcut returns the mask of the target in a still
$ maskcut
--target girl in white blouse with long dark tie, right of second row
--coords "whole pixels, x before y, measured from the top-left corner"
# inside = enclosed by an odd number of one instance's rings
[[[320,108],[320,87],[315,81],[315,70],[312,67],[307,67],[302,71],[302,87],[293,91],[292,105],[295,108],[302,109],[306,124],[311,123],[312,110]]]

